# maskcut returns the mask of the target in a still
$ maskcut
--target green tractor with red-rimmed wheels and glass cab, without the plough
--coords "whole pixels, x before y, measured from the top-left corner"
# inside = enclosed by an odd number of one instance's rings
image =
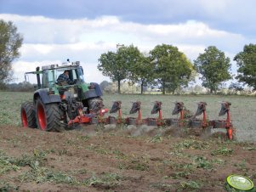
[[[58,78],[66,72],[69,83]],[[28,74],[37,75],[37,86],[33,101],[21,104],[23,127],[61,132],[78,123],[90,123],[107,112],[103,110],[99,84],[84,82],[79,61],[46,65],[42,70],[37,67],[36,71],[25,73],[26,80]]]

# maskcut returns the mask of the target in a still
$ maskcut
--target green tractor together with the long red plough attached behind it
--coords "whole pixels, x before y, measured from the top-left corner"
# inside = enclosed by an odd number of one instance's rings
[[[68,73],[68,74],[67,74]],[[230,118],[230,102],[221,102],[219,116],[225,116],[224,120],[209,120],[205,102],[199,102],[194,116],[186,114],[185,104],[175,102],[173,113],[176,118],[162,118],[162,102],[154,103],[151,114],[158,117],[142,118],[141,102],[135,101],[129,114],[138,113],[138,117],[122,117],[122,101],[114,101],[110,113],[118,116],[106,116],[102,92],[97,83],[85,83],[80,62],[64,63],[62,65],[47,65],[40,70],[26,72],[37,75],[37,88],[33,95],[33,101],[21,104],[21,121],[23,127],[40,128],[43,131],[61,132],[65,129],[76,128],[78,124],[126,124],[140,127],[141,125],[155,127],[188,127],[192,129],[208,131],[222,129],[226,136],[232,139],[235,128]],[[61,74],[69,76],[58,78]],[[63,76],[62,75],[62,76]],[[42,79],[42,81],[41,81]],[[41,83],[42,82],[42,83]],[[201,116],[198,119],[196,116]]]

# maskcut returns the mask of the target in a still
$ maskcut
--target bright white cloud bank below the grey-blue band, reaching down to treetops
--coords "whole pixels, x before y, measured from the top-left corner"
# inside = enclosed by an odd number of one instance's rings
[[[85,71],[89,72],[89,81],[94,82],[93,78],[97,82],[108,79],[97,70],[98,59],[100,54],[115,51],[117,43],[134,44],[147,52],[157,44],[173,44],[193,60],[210,45],[226,53],[236,54],[244,44],[250,42],[241,34],[219,31],[197,20],[145,25],[123,21],[116,16],[68,20],[0,14],[0,19],[12,20],[25,39],[20,49],[21,57],[14,63],[14,74],[19,81],[20,74],[31,70],[31,66],[35,68],[35,63],[61,63],[68,58],[88,64],[84,66]]]

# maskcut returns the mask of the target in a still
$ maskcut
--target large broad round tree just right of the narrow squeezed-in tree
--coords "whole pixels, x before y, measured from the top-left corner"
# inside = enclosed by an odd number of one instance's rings
[[[150,54],[155,64],[156,82],[161,84],[162,94],[165,94],[166,88],[174,93],[177,88],[187,86],[193,66],[185,54],[166,44],[157,45]]]

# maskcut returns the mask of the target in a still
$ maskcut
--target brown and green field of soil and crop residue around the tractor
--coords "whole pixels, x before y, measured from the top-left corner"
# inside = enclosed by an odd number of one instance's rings
[[[30,98],[31,93],[0,93],[0,191],[236,191],[225,184],[228,175],[256,181],[253,97],[104,96],[106,108],[122,100],[123,116],[135,100],[142,102],[143,117],[151,116],[153,102],[160,100],[165,118],[172,117],[175,101],[193,112],[196,101],[206,101],[208,118],[219,119],[219,102],[230,101],[236,141],[172,127],[25,129],[20,104]]]

